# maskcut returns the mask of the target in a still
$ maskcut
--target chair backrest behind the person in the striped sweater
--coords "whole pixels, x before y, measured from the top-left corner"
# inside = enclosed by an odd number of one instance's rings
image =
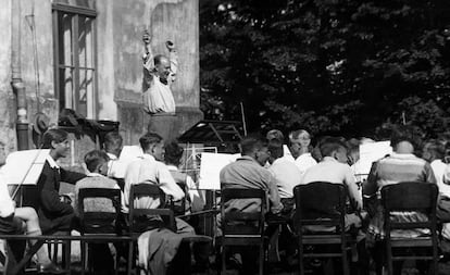
[[[385,229],[436,228],[438,187],[422,182],[402,182],[382,188],[382,205],[385,210]],[[428,216],[427,222],[391,222],[390,213],[416,211]]]

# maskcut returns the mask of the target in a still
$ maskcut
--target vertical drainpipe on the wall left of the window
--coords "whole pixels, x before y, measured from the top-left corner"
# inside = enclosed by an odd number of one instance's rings
[[[15,130],[17,134],[17,150],[27,150],[28,147],[28,115],[25,85],[21,70],[21,1],[12,0],[12,32],[11,32],[11,86],[16,98],[17,118]]]

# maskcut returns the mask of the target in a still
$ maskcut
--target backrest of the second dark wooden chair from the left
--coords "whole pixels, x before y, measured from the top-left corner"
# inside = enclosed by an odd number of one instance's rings
[[[135,205],[135,199],[142,197],[151,199],[159,198],[161,203],[158,209],[137,208]],[[132,185],[129,191],[128,215],[130,232],[140,233],[142,230],[146,230],[145,227],[142,227],[142,223],[146,223],[148,218],[158,220],[158,217],[161,217],[163,220],[163,224],[166,228],[174,232],[176,230],[174,212],[171,209],[165,209],[164,191],[162,191],[161,188],[159,188],[157,185],[149,183]],[[161,226],[160,223],[157,224],[159,224],[158,226]]]

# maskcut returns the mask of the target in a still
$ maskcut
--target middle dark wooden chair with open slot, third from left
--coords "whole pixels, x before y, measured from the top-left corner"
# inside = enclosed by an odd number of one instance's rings
[[[232,199],[259,199],[261,207],[257,212],[225,212],[224,204]],[[222,228],[222,272],[226,272],[226,247],[257,246],[259,247],[259,274],[264,272],[264,215],[266,193],[261,189],[222,189],[221,228]]]

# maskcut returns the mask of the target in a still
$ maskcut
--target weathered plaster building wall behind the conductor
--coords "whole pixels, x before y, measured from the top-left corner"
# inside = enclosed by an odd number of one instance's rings
[[[141,35],[145,28],[153,36],[154,53],[165,53],[165,40],[175,42],[179,73],[173,87],[178,123],[177,136],[202,117],[199,111],[199,7],[198,0],[2,0],[0,9],[0,140],[8,150],[16,150],[15,97],[11,88],[12,7],[21,4],[21,65],[32,123],[38,109],[55,124],[59,101],[53,82],[52,3],[88,3],[97,17],[97,108],[95,120],[121,122],[125,143],[136,143],[147,129],[148,116],[141,110]],[[34,14],[39,59],[40,95],[36,93],[33,36],[26,15]],[[96,147],[87,136],[75,139],[70,164],[83,152]],[[33,142],[29,142],[30,147]],[[98,145],[97,145],[98,146]]]

